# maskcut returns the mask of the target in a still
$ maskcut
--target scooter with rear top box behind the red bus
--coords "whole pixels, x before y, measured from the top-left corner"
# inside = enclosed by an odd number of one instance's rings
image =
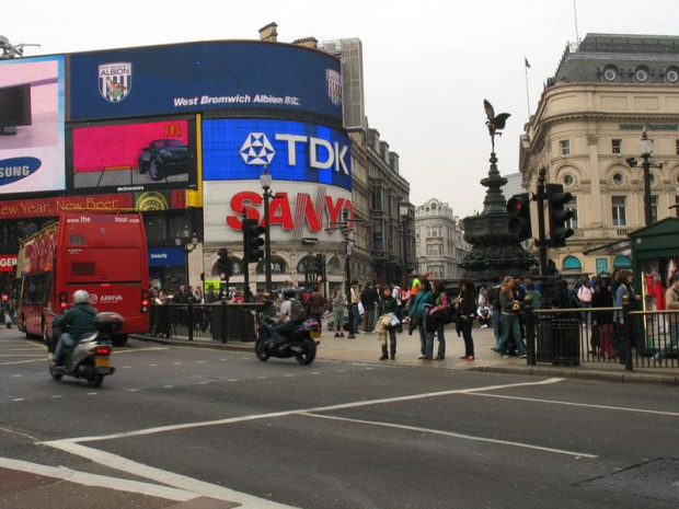
[[[120,332],[125,319],[117,313],[102,312],[94,316],[95,333],[88,333],[80,337],[74,347],[64,350],[64,363],[54,366],[49,362],[49,374],[55,380],[61,380],[64,375],[76,379],[84,379],[93,387],[99,387],[104,382],[104,377],[113,374],[115,368],[111,362],[113,336]],[[49,344],[49,352],[54,354],[61,331],[53,326],[53,337]]]

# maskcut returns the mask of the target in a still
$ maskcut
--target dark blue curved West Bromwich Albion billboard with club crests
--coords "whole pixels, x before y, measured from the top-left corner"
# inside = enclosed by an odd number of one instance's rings
[[[284,109],[342,123],[341,63],[287,44],[205,42],[73,54],[70,120]]]

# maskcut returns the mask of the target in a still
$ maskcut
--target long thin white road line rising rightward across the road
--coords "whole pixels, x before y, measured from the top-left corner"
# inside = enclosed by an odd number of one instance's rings
[[[553,379],[542,380],[539,382],[519,382],[519,383],[507,383],[504,385],[486,385],[486,386],[472,387],[472,389],[452,389],[450,391],[438,391],[438,392],[429,392],[429,393],[424,393],[424,394],[412,394],[410,396],[384,397],[381,400],[366,400],[366,401],[354,402],[354,403],[342,403],[337,405],[317,406],[312,408],[298,408],[296,410],[280,410],[280,412],[272,412],[268,414],[253,414],[253,415],[244,415],[241,417],[230,417],[227,419],[204,420],[199,423],[184,423],[184,424],[179,424],[179,425],[159,426],[156,428],[138,429],[134,431],[122,431],[122,432],[113,433],[113,435],[78,437],[78,438],[70,438],[70,439],[57,440],[55,442],[45,442],[45,443],[50,444],[50,443],[57,443],[57,442],[69,442],[69,443],[94,442],[94,441],[111,440],[111,439],[116,439],[116,438],[139,437],[143,435],[154,435],[154,433],[161,433],[165,431],[177,431],[182,429],[203,428],[206,426],[220,426],[220,425],[228,425],[228,424],[235,424],[235,423],[246,423],[250,420],[271,419],[275,417],[287,417],[287,416],[296,415],[296,414],[318,414],[321,412],[342,410],[346,408],[359,408],[361,406],[384,405],[389,403],[401,403],[405,401],[425,400],[427,397],[448,396],[451,394],[465,394],[470,392],[497,391],[502,389],[545,385],[545,384],[562,382],[563,380],[565,379],[553,378]],[[238,382],[238,380],[229,380],[229,382]]]

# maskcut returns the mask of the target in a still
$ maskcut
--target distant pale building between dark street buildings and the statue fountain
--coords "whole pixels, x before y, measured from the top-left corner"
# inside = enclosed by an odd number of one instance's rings
[[[417,271],[436,279],[460,279],[460,262],[471,251],[464,241],[462,221],[452,208],[436,198],[415,208]]]

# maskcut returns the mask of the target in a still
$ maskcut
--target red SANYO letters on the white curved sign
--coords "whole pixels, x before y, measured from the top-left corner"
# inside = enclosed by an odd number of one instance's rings
[[[312,197],[308,193],[299,193],[296,203],[301,204],[298,206],[303,207],[306,224],[312,232],[323,230],[324,218],[327,218],[329,224],[341,221],[343,209],[347,209],[349,218],[354,218],[354,207],[348,199],[326,196],[323,210],[317,210]],[[257,193],[250,190],[237,193],[231,198],[231,210],[233,213],[227,216],[227,224],[233,230],[242,230],[243,211],[245,211],[248,219],[256,219],[262,222],[264,219],[264,212],[260,211],[262,205],[263,198]],[[268,218],[272,227],[278,225],[283,230],[292,230],[295,228],[294,213],[287,193],[278,193],[269,201]],[[334,225],[330,228],[334,228]]]

